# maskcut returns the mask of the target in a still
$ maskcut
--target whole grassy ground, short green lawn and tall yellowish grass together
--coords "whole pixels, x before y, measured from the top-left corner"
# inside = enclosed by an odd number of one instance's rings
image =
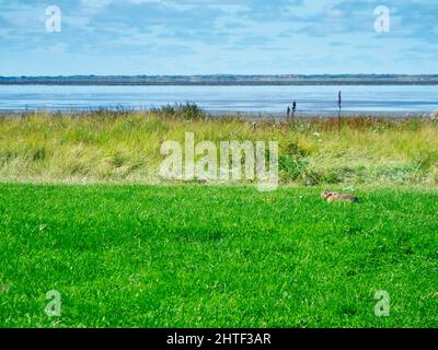
[[[278,141],[279,188],[163,182],[160,145],[186,132]],[[0,183],[0,327],[438,326],[431,118],[3,116]]]

